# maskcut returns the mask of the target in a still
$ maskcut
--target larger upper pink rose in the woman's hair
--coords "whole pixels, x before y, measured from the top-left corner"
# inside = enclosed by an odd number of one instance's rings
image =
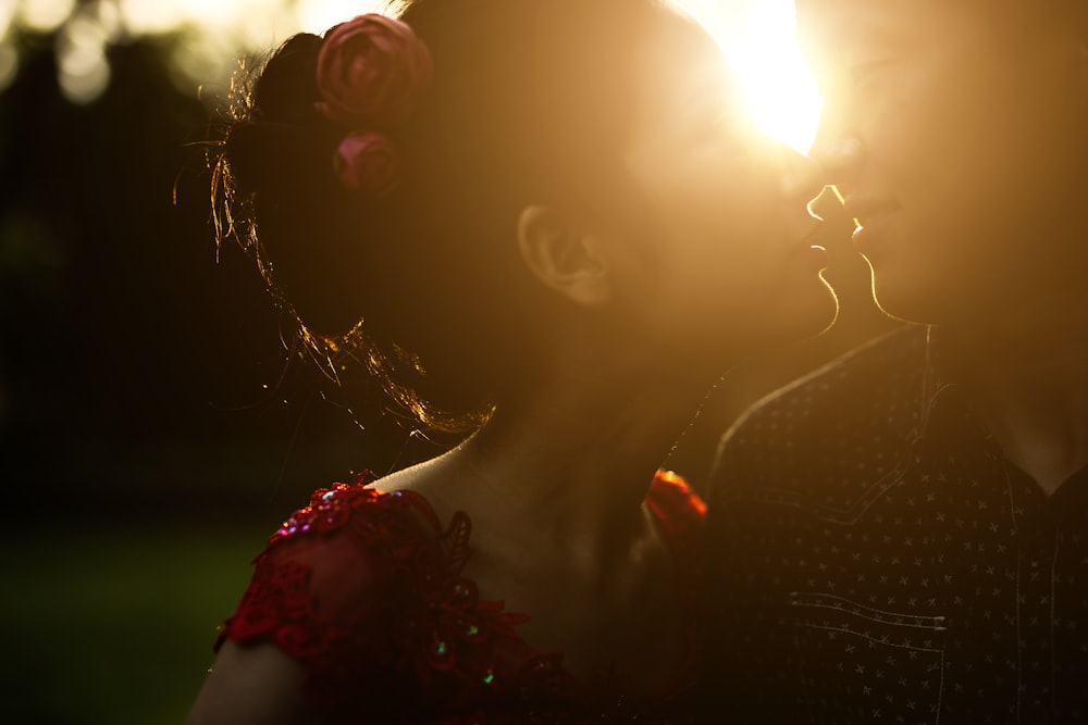
[[[376,13],[332,28],[318,55],[318,110],[349,127],[404,123],[431,85],[426,46],[405,23]]]

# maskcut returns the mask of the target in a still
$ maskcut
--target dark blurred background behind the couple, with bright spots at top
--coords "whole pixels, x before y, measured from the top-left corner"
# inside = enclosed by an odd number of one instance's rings
[[[0,0],[0,723],[180,723],[285,514],[448,445],[294,360],[209,224],[237,59],[366,10]],[[751,401],[888,327],[824,207],[840,324],[726,376],[669,461],[696,485]]]

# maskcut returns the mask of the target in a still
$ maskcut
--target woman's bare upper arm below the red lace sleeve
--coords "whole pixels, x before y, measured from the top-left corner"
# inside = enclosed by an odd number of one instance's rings
[[[316,725],[302,666],[272,645],[223,643],[185,725]]]

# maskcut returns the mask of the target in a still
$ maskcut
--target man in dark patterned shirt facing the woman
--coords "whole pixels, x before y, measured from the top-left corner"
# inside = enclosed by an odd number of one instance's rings
[[[709,496],[724,717],[1088,722],[1088,3],[799,0],[889,314]]]

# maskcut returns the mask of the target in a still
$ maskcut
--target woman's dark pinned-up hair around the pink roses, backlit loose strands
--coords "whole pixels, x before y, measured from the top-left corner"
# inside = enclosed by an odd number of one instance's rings
[[[654,0],[416,0],[400,18],[433,82],[387,132],[400,180],[345,187],[349,129],[317,108],[323,39],[287,40],[235,92],[211,160],[218,238],[252,254],[300,339],[335,376],[361,362],[425,425],[479,424],[531,373],[557,296],[519,258],[529,203],[638,211],[620,153]]]

